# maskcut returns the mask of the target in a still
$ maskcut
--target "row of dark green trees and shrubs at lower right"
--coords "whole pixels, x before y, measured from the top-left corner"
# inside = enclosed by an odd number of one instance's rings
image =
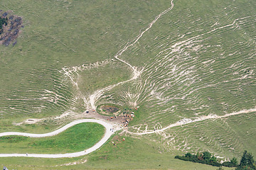
[[[203,152],[197,154],[186,153],[184,156],[176,156],[175,159],[181,159],[183,161],[198,162],[201,164],[208,164],[212,166],[227,166],[236,167],[236,170],[256,170],[255,161],[252,154],[248,153],[246,150],[242,154],[240,164],[238,164],[238,159],[233,157],[230,162],[223,162],[220,164],[217,158],[214,157],[210,152]],[[221,168],[220,168],[221,169]]]

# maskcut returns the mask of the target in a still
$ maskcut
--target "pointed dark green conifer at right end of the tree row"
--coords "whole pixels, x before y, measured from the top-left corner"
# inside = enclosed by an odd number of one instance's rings
[[[256,169],[255,161],[251,153],[248,153],[247,150],[243,152],[240,164],[238,165],[237,170],[240,169]]]

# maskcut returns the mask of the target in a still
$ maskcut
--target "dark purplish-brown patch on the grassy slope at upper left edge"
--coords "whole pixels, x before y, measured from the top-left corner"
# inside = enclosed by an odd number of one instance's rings
[[[0,18],[5,19],[6,23],[1,26],[0,30],[0,44],[9,46],[16,45],[18,35],[23,28],[23,21],[20,16],[13,15],[12,11],[1,11]]]

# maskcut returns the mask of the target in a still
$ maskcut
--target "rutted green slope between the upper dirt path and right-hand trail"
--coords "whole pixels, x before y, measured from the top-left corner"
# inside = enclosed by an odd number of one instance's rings
[[[174,1],[121,56],[144,72],[136,83],[113,89],[114,99],[124,102],[122,91],[139,95],[139,121],[151,126],[255,108],[255,6]]]

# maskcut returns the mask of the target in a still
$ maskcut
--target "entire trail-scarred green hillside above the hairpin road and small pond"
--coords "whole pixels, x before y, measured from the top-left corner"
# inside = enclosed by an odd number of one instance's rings
[[[1,4],[25,24],[0,47],[1,118],[139,106],[122,135],[158,154],[256,155],[256,1]]]

